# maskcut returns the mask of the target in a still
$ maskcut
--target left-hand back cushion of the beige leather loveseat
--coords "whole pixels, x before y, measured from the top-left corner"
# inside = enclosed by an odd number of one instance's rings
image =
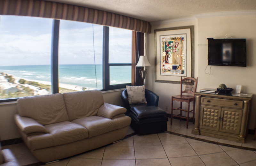
[[[20,116],[30,117],[42,125],[69,120],[62,94],[24,97],[17,102]]]

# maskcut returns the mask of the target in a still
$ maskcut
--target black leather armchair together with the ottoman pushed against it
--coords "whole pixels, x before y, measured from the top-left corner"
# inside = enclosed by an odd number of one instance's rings
[[[122,101],[127,109],[126,115],[132,118],[131,127],[139,135],[164,132],[167,130],[167,113],[157,107],[159,97],[145,89],[145,104],[129,104],[127,90],[122,92]]]

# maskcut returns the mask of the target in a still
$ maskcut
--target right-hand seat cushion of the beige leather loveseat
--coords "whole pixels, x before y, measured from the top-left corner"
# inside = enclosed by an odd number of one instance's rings
[[[89,138],[118,129],[115,120],[98,116],[82,117],[72,122],[84,126],[89,132]]]

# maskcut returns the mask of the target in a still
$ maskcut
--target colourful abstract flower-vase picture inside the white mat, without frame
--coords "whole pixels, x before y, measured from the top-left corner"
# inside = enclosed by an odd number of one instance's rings
[[[160,36],[160,75],[187,76],[186,34]]]

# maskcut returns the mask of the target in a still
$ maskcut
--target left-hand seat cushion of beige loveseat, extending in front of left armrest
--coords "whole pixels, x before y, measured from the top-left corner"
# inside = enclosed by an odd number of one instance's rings
[[[44,126],[49,133],[28,136],[30,149],[41,149],[75,142],[88,138],[88,131],[83,126],[64,121]]]

